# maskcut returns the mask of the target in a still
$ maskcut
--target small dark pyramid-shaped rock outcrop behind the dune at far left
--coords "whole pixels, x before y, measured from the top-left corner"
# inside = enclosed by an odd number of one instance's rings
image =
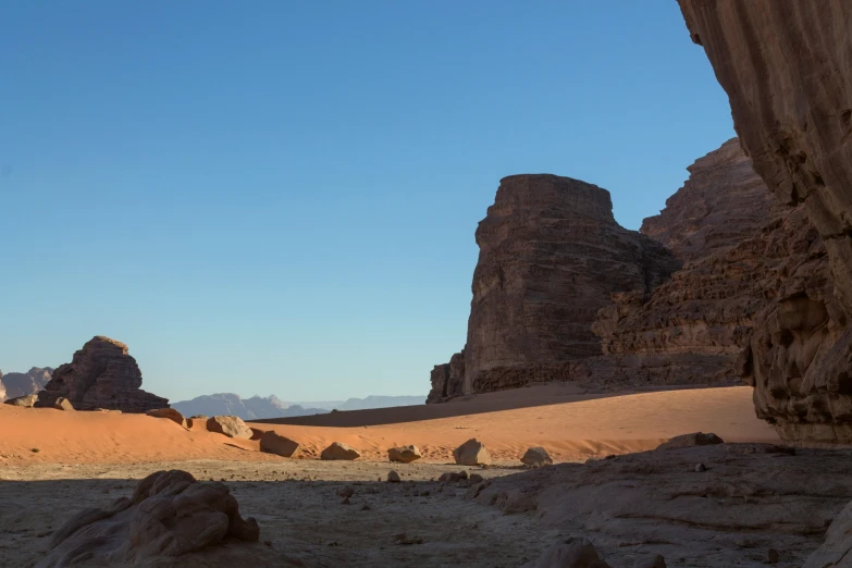
[[[38,393],[36,406],[52,407],[59,397],[67,398],[77,410],[106,408],[145,412],[169,406],[166,398],[141,388],[141,372],[127,346],[98,335],[74,354],[70,363],[53,371],[52,379]]]

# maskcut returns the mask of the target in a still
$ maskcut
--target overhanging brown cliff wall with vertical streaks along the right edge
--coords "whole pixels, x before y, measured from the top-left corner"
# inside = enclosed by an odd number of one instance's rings
[[[758,316],[744,362],[758,413],[788,440],[852,443],[852,2],[679,3],[755,171],[804,206],[829,256],[830,285]]]

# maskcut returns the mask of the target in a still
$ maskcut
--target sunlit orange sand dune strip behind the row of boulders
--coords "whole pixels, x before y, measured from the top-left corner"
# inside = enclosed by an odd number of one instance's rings
[[[381,425],[331,428],[254,423],[275,430],[305,447],[308,456],[333,441],[385,460],[388,447],[416,444],[430,461],[449,461],[452,449],[478,437],[498,461],[517,462],[531,445],[545,446],[554,459],[641,452],[677,434],[702,430],[732,442],[777,442],[775,431],[754,416],[752,390],[696,388],[576,399],[510,410],[483,412],[476,397],[469,413],[402,422],[381,412]],[[441,416],[442,406],[434,407]],[[399,412],[406,412],[402,407]],[[419,410],[422,412],[429,412]],[[459,412],[460,408],[456,409]],[[378,411],[376,411],[378,412]],[[477,413],[479,412],[479,413]],[[171,420],[144,415],[64,412],[0,405],[0,464],[122,464],[192,459],[275,460],[257,442],[236,441],[210,432],[187,431]],[[38,452],[32,452],[37,448]]]

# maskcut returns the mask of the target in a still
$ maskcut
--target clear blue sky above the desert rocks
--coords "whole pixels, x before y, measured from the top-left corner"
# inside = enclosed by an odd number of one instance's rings
[[[7,2],[0,102],[0,369],[173,400],[425,394],[501,177],[638,229],[733,136],[674,0]]]

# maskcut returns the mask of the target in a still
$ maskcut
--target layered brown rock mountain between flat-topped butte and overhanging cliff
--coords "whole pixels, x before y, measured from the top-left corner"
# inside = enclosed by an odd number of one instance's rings
[[[601,310],[593,330],[605,357],[584,373],[596,386],[738,383],[755,316],[802,266],[826,277],[825,247],[804,211],[777,202],[736,138],[688,170],[641,229],[684,266],[651,295],[615,294]]]

